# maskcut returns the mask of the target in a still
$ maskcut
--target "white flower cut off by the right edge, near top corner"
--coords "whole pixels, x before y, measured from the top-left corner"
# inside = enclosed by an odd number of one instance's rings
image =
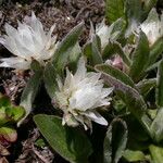
[[[163,37],[163,14],[159,20],[155,9],[152,9],[140,28],[147,35],[150,46],[152,46],[159,38]]]

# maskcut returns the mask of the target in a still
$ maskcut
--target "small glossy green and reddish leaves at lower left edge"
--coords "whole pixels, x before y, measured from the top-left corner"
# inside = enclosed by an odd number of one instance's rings
[[[15,125],[24,114],[24,108],[13,105],[8,97],[0,95],[0,155],[8,155],[7,148],[16,141]]]

